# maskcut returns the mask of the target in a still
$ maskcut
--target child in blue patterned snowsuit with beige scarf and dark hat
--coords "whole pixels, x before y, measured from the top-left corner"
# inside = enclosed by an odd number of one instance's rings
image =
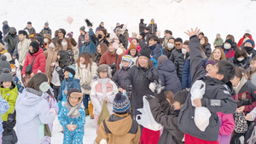
[[[69,89],[67,101],[59,114],[59,120],[64,127],[63,143],[83,143],[85,112],[81,107],[83,94],[79,89]]]

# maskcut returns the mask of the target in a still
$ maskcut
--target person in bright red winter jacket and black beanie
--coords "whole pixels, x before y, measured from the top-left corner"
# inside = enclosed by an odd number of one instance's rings
[[[29,71],[29,68],[27,68],[29,65],[32,65],[32,71]],[[21,76],[23,78],[25,78],[26,75],[33,77],[38,72],[45,72],[45,56],[44,50],[39,47],[39,43],[33,41],[29,45],[29,51],[24,61]]]

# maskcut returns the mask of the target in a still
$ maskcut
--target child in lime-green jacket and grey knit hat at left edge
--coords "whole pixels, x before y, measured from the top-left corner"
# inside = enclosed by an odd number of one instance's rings
[[[15,102],[18,97],[18,89],[15,85],[15,81],[13,78],[13,74],[9,72],[8,68],[4,68],[3,72],[0,75],[0,95],[2,95],[3,99],[9,103],[9,110],[4,114],[1,114],[1,118],[3,120],[3,139],[4,137],[9,137],[9,135],[13,135],[14,139],[9,141],[15,141]],[[7,141],[5,141],[7,142]]]

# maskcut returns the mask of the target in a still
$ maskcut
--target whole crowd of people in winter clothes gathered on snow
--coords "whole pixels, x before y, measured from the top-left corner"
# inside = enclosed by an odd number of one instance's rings
[[[111,32],[104,22],[95,32],[85,23],[76,41],[48,22],[37,33],[31,21],[18,32],[3,21],[0,143],[49,144],[56,117],[65,144],[83,143],[86,117],[95,121],[95,144],[255,143],[249,30],[238,43],[218,33],[211,46],[197,28],[186,40],[171,30],[158,37],[154,19],[148,26],[141,19],[131,37],[119,22]],[[138,124],[143,96],[161,130]]]

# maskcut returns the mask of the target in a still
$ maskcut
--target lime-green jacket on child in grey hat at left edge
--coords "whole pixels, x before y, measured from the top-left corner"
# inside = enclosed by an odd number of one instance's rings
[[[13,84],[12,86],[15,86],[15,88],[9,89],[0,87],[0,94],[2,95],[3,99],[9,103],[9,110],[4,114],[1,114],[3,121],[7,121],[8,115],[15,112],[15,103],[18,97],[18,89],[16,85]]]

